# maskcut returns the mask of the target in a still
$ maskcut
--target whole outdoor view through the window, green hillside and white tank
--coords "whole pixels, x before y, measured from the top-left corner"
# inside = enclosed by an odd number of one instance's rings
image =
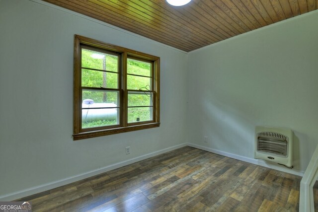
[[[81,50],[82,128],[120,124],[121,77],[127,77],[127,122],[153,120],[151,62],[127,60],[121,76],[120,55]]]

